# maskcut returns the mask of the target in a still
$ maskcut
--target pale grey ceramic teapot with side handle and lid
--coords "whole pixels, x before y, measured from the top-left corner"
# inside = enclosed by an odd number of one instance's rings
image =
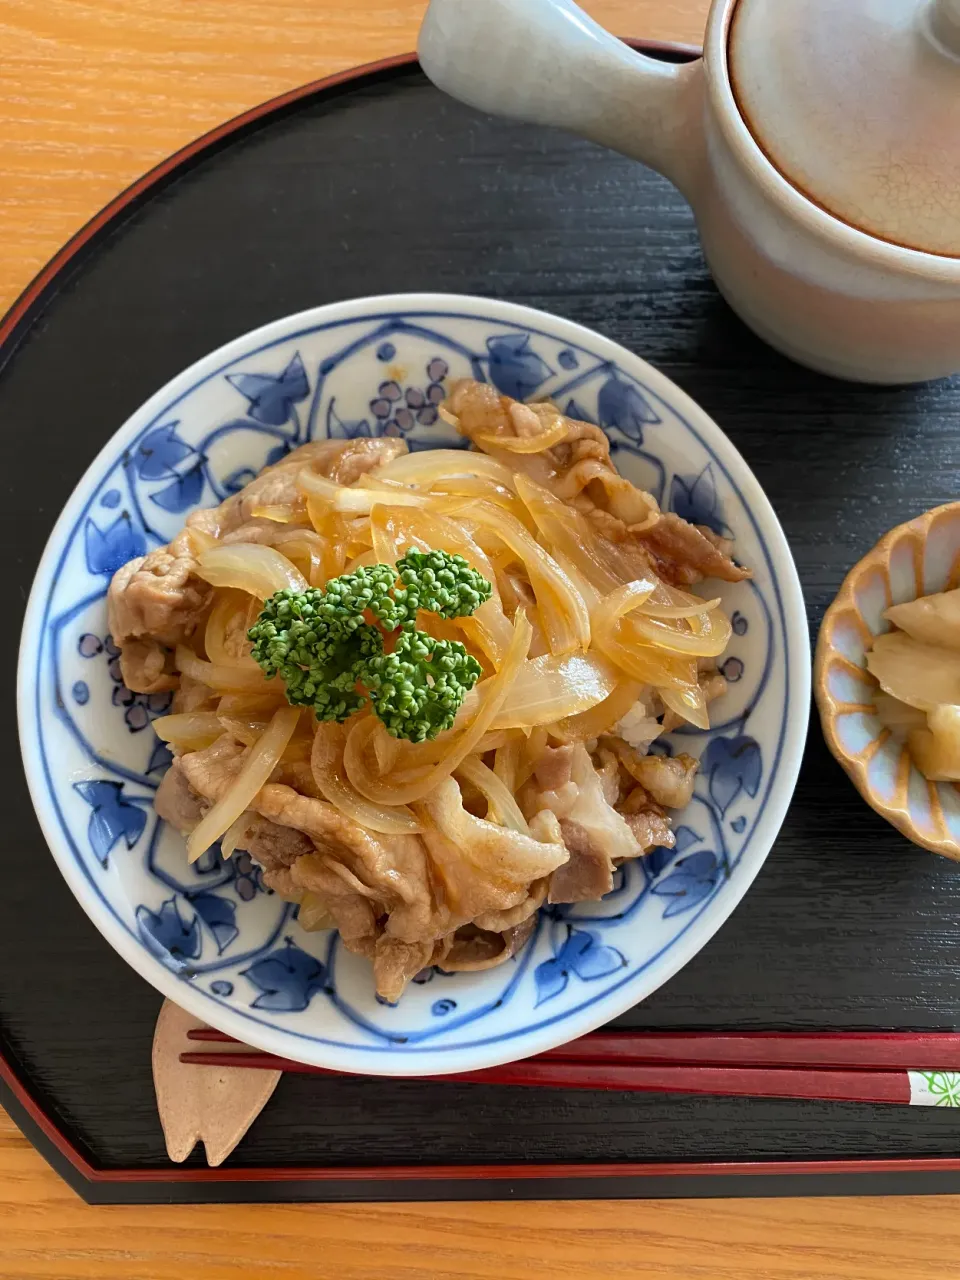
[[[426,74],[652,165],[772,346],[872,383],[960,370],[960,0],[714,0],[701,59],[572,0],[431,0]]]

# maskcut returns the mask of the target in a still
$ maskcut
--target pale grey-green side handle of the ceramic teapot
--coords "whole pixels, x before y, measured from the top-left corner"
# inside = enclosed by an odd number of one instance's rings
[[[420,63],[470,106],[580,133],[690,195],[700,154],[700,61],[634,52],[572,0],[430,0]]]

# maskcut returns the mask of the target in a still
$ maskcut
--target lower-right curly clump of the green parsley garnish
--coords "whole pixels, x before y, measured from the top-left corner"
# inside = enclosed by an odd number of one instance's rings
[[[393,737],[434,739],[453,724],[480,678],[480,663],[457,640],[401,632],[393,653],[367,659],[364,684]]]

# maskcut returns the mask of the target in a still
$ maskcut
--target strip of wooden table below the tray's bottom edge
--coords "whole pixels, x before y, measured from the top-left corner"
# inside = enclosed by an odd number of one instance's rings
[[[951,1280],[950,1198],[90,1208],[0,1116],[5,1280]]]

